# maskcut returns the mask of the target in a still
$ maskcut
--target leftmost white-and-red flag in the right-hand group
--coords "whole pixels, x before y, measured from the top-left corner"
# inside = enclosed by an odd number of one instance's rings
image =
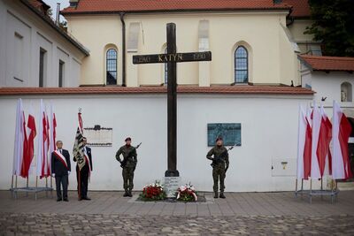
[[[300,106],[297,136],[297,179],[308,179],[311,170],[312,131],[311,120],[308,119],[306,113],[304,108]]]

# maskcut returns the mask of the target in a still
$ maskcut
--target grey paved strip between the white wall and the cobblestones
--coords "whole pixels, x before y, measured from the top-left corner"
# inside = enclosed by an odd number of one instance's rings
[[[312,197],[312,204],[304,197],[296,198],[292,192],[281,193],[227,193],[226,199],[212,199],[205,193],[207,202],[134,202],[121,192],[89,192],[92,201],[77,201],[75,192],[69,192],[70,202],[38,195],[19,194],[14,200],[9,191],[0,191],[0,212],[57,213],[57,214],[118,214],[142,216],[323,216],[354,215],[354,191],[342,191],[338,202],[330,198]]]

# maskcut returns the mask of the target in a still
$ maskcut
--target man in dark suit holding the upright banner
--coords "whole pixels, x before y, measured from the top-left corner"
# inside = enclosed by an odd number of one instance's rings
[[[87,139],[82,137],[83,141],[83,153],[85,155],[85,165],[79,170],[79,165],[76,165],[76,179],[78,182],[79,201],[91,200],[88,197],[89,175],[92,171],[92,155],[91,148],[87,147]],[[76,162],[75,156],[73,161]],[[80,176],[79,176],[80,175]]]

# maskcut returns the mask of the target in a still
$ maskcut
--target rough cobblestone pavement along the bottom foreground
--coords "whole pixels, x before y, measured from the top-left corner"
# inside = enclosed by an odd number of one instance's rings
[[[353,216],[153,217],[0,214],[4,235],[353,235]]]

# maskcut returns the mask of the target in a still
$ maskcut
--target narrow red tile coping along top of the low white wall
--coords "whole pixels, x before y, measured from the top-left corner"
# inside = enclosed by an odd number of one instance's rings
[[[307,88],[284,86],[178,87],[180,94],[313,95]],[[165,94],[166,87],[0,88],[0,95]]]

